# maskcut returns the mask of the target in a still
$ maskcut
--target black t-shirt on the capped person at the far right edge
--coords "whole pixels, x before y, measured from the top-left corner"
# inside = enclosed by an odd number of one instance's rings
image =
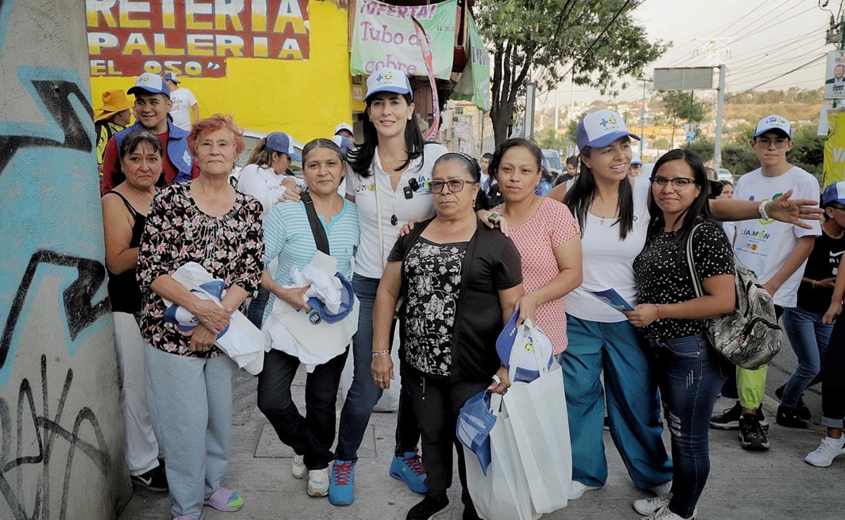
[[[845,252],[845,235],[832,238],[821,228],[821,235],[815,237],[813,251],[807,258],[804,276],[813,280],[836,278],[842,252]],[[832,295],[833,291],[829,289],[813,289],[813,284],[802,281],[798,287],[798,306],[808,311],[824,313],[831,304]]]

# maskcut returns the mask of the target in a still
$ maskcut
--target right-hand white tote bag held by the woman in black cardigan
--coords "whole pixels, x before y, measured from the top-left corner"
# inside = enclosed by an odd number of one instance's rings
[[[530,323],[523,327],[532,327]],[[537,335],[537,329],[532,330]],[[519,350],[511,350],[510,372],[516,367]],[[537,512],[553,512],[566,506],[572,480],[572,444],[566,411],[563,371],[557,363],[548,366],[535,349],[540,376],[532,382],[515,382],[504,395],[504,404],[514,430],[515,449]]]

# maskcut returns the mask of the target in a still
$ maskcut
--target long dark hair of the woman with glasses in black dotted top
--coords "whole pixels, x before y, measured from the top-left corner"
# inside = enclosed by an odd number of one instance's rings
[[[651,179],[657,175],[662,165],[665,165],[670,160],[683,160],[687,165],[690,165],[693,176],[695,177],[695,186],[700,188],[698,197],[690,204],[690,207],[684,209],[678,216],[679,219],[684,219],[684,224],[681,225],[679,232],[672,237],[668,245],[676,246],[680,251],[685,251],[686,243],[690,238],[692,228],[701,220],[713,220],[713,214],[710,211],[710,202],[707,200],[707,172],[705,165],[701,162],[701,157],[694,151],[689,149],[673,149],[663,154],[660,159],[654,163],[654,170],[651,171]],[[651,181],[649,179],[649,181]],[[690,189],[690,187],[687,187]],[[649,226],[648,236],[662,230],[666,226],[666,220],[663,219],[663,210],[657,205],[654,200],[654,193],[649,192],[648,196],[648,213],[651,215],[651,225]],[[677,220],[676,220],[677,222]]]

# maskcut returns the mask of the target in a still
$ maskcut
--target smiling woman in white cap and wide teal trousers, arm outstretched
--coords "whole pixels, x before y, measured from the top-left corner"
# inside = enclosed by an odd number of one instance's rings
[[[587,114],[576,133],[581,175],[549,192],[555,198],[565,193],[564,203],[581,225],[584,259],[583,284],[566,297],[569,346],[561,363],[570,424],[579,425],[571,430],[570,500],[600,488],[608,476],[602,442],[605,391],[610,435],[635,485],[658,496],[671,489],[672,463],[661,439],[657,380],[649,375],[647,350],[624,315],[591,294],[614,289],[636,304],[633,263],[646,243],[650,187],[646,182],[624,182],[631,138],[638,137],[618,113]],[[814,201],[790,201],[789,195],[767,203],[766,213],[797,225],[799,218],[817,218],[814,209],[804,209]],[[719,200],[712,209],[721,220],[759,216],[755,202]]]

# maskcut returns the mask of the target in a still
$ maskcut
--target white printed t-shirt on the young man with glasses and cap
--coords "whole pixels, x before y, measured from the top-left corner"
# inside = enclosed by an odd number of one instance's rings
[[[793,166],[777,177],[763,176],[760,168],[750,171],[739,177],[733,190],[733,198],[762,202],[776,198],[790,189],[793,190],[792,198],[819,200],[819,181],[798,166]],[[737,222],[736,241],[733,244],[737,262],[754,271],[760,284],[765,284],[777,274],[777,270],[798,244],[799,237],[821,235],[818,220],[810,220],[807,223],[812,225],[813,229],[805,230],[797,225],[772,219]],[[798,286],[806,263],[805,260],[777,290],[774,296],[776,305],[798,305]]]

